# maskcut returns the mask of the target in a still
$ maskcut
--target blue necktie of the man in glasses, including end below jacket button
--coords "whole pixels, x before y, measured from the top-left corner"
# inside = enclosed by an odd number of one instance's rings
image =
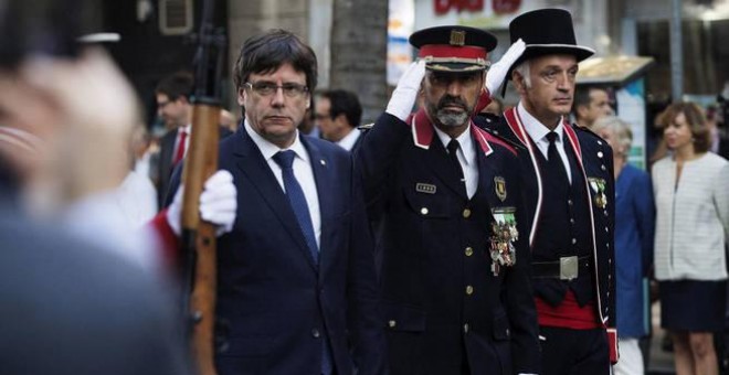
[[[306,196],[294,175],[294,158],[296,153],[292,150],[278,151],[274,157],[274,161],[281,167],[284,178],[284,189],[286,189],[286,196],[290,203],[298,226],[304,233],[306,245],[314,257],[314,262],[319,262],[319,249],[316,245],[314,236],[314,225],[311,224],[311,216],[309,216],[309,206],[306,204]],[[321,335],[321,374],[329,375],[332,373],[332,358],[329,351],[329,344],[326,332]]]

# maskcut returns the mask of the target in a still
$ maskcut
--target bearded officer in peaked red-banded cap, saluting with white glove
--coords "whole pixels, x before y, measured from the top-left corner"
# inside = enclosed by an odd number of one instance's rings
[[[471,121],[496,39],[439,26],[410,43],[420,61],[357,154],[382,253],[390,373],[537,374],[516,151]],[[419,93],[424,107],[409,116]]]

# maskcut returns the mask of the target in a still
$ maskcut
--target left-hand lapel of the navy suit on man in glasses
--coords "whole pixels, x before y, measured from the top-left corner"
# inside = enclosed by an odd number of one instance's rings
[[[311,258],[308,246],[306,245],[304,234],[298,227],[298,221],[288,203],[288,197],[284,194],[284,191],[271,171],[268,163],[263,159],[263,154],[261,154],[261,151],[251,137],[249,137],[247,132],[243,129],[243,131],[240,131],[239,133],[241,137],[236,137],[235,139],[235,142],[239,144],[233,147],[233,150],[235,150],[234,156],[237,158],[235,163],[236,167],[247,176],[247,183],[251,183],[258,191],[258,195],[276,214],[282,226],[298,245],[302,255],[304,255],[309,265],[316,269],[317,266]],[[245,199],[246,197],[244,197],[244,200]]]

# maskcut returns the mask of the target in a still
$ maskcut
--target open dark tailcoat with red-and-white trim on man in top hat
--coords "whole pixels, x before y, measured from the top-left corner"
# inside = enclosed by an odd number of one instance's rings
[[[513,142],[521,144],[520,161],[521,161],[521,175],[524,181],[527,213],[529,214],[529,226],[531,228],[531,237],[529,238],[530,247],[535,258],[543,258],[540,253],[539,244],[533,242],[535,236],[540,229],[540,213],[542,213],[542,175],[541,171],[535,165],[538,165],[536,153],[540,152],[527,137],[528,133],[519,119],[516,108],[511,108],[504,113],[501,118],[478,117],[479,126],[490,129],[492,131],[509,139]],[[609,328],[615,326],[615,268],[614,268],[614,223],[615,223],[615,184],[613,176],[613,152],[608,142],[602,140],[593,132],[564,124],[566,144],[572,148],[572,151],[578,156],[578,164],[581,173],[573,175],[575,179],[584,179],[585,191],[583,197],[589,200],[591,216],[591,233],[590,238],[593,267],[592,278],[595,288],[595,297],[598,307],[598,315],[601,321]],[[605,195],[608,197],[608,205],[603,208],[595,203],[595,186],[589,181],[590,179],[604,180]],[[558,259],[552,259],[558,260]]]

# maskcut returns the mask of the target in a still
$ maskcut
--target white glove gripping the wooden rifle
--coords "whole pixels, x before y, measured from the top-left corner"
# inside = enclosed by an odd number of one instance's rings
[[[182,233],[180,213],[183,191],[184,186],[178,189],[172,204],[167,210],[167,223],[178,236]],[[233,184],[233,175],[225,170],[215,172],[203,185],[202,194],[200,194],[200,217],[216,225],[219,236],[233,229],[237,210],[236,195],[237,190]]]

